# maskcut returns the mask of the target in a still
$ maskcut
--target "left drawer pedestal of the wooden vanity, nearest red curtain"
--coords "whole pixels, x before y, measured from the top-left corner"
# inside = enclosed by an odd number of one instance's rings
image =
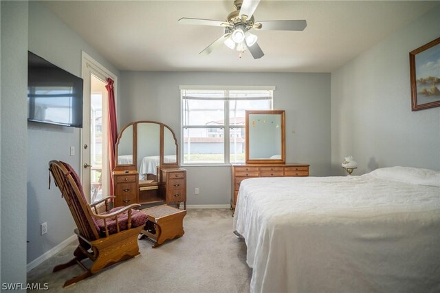
[[[137,204],[137,171],[113,171],[114,206],[128,206]]]

